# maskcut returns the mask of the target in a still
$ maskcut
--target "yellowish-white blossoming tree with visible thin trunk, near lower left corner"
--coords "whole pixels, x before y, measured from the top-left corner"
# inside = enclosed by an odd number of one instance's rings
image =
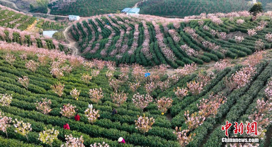
[[[27,142],[28,142],[28,137],[27,134],[32,130],[31,124],[29,122],[25,123],[23,121],[18,121],[15,118],[15,121],[13,121],[14,127],[15,127],[15,132],[19,133],[23,136],[26,136]]]

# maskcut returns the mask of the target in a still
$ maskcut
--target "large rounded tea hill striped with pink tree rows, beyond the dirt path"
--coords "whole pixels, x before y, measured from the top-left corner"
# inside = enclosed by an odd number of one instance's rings
[[[77,22],[72,26],[71,34],[87,59],[111,60],[117,65],[163,63],[177,68],[193,62],[203,64],[225,57],[245,57],[256,50],[270,48],[271,42],[265,36],[271,32],[271,18],[265,16],[251,22],[248,13],[240,14],[244,16],[231,20],[227,16],[188,22],[174,20],[169,24],[168,20],[156,24],[148,16],[105,15]],[[256,34],[249,36],[248,29],[260,26]],[[235,36],[242,40],[238,41]],[[256,41],[262,46],[255,46]]]

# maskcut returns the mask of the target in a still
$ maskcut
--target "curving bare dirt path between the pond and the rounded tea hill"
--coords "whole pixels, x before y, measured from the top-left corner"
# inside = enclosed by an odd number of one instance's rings
[[[69,41],[69,44],[67,44],[67,47],[68,48],[70,48],[71,50],[72,50],[72,55],[78,55],[78,54],[80,54],[80,51],[79,51],[79,46],[78,46],[78,43],[74,40],[74,39],[72,39],[71,37],[70,37],[70,35],[69,35],[69,28],[70,28],[71,26],[69,26],[69,27],[66,27],[65,29],[64,29],[64,31],[63,31],[63,35],[64,35],[64,37],[65,37],[65,39],[67,40],[67,41]]]

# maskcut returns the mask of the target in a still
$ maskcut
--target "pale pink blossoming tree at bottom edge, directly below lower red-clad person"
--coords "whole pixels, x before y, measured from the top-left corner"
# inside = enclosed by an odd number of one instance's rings
[[[84,139],[82,135],[80,136],[80,138],[75,138],[72,136],[72,134],[64,136],[66,139],[66,143],[62,144],[61,147],[85,147],[85,145],[83,144]]]

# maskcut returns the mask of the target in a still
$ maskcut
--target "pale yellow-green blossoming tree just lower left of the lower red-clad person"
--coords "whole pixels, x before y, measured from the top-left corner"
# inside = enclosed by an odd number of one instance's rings
[[[44,131],[39,132],[39,138],[38,140],[42,141],[42,143],[49,144],[52,147],[52,143],[54,140],[58,139],[57,136],[59,134],[58,130],[47,129],[45,128]]]

